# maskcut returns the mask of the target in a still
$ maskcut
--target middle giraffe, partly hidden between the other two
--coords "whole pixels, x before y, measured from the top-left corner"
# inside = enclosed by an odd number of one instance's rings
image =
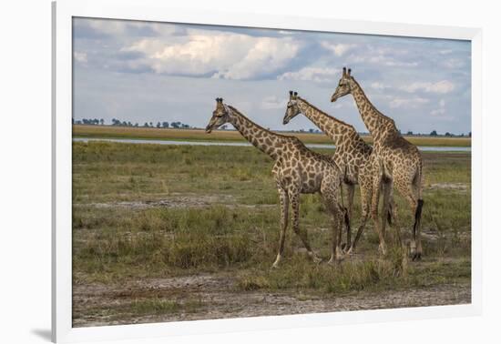
[[[298,96],[297,92],[289,92],[289,103],[283,117],[283,124],[287,125],[291,119],[299,114],[309,118],[318,126],[325,135],[331,137],[336,146],[332,159],[343,171],[343,181],[347,187],[347,207],[348,217],[352,219],[353,214],[353,195],[355,185],[360,185],[361,203],[362,203],[362,222],[357,230],[357,234],[352,243],[350,228],[347,228],[346,247],[348,254],[353,253],[354,248],[369,218],[371,210],[371,198],[373,197],[373,164],[376,161],[373,154],[373,147],[366,144],[363,138],[358,135],[355,128],[343,121],[327,115],[322,110],[312,106],[307,100]],[[385,187],[385,184],[383,184]],[[383,214],[383,221],[386,214]],[[377,223],[377,213],[371,214],[374,223]],[[388,218],[391,214],[388,213]],[[386,255],[386,244],[383,233],[378,231],[379,249],[383,255]]]

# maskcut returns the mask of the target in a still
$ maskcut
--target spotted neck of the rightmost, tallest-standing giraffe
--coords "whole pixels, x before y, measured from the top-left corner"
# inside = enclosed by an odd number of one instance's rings
[[[374,144],[383,140],[390,133],[398,133],[394,125],[394,120],[388,116],[384,116],[373,106],[369,98],[365,96],[362,87],[354,79],[352,83],[352,96],[362,116],[363,123],[373,137]]]

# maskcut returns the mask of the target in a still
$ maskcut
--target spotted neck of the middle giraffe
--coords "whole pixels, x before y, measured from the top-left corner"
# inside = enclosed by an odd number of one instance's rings
[[[337,147],[340,147],[345,142],[346,137],[356,134],[353,126],[327,115],[300,97],[298,97],[298,106],[302,114],[318,126],[325,135],[331,137]]]

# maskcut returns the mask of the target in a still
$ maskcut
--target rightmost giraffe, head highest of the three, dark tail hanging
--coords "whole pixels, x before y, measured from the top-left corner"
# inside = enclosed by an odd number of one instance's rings
[[[351,69],[346,72],[346,67],[343,67],[343,76],[331,97],[331,101],[335,102],[340,97],[348,94],[353,96],[363,123],[373,137],[373,150],[379,165],[374,182],[380,184],[383,178],[388,179],[390,187],[385,192],[391,194],[393,187],[395,187],[407,200],[414,213],[411,257],[413,260],[419,260],[423,255],[421,246],[421,214],[424,205],[423,159],[417,147],[402,137],[394,124],[394,120],[384,116],[373,106],[351,73]],[[373,188],[373,211],[377,211],[379,190],[379,187]],[[389,206],[387,202],[384,203],[383,211]],[[397,238],[401,242],[398,225],[395,224],[395,228]]]

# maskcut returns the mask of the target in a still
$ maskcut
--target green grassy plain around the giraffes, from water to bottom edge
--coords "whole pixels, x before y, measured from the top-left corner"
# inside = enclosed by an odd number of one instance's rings
[[[334,267],[308,260],[289,228],[283,264],[271,270],[278,246],[278,196],[273,163],[254,147],[76,142],[74,324],[308,311],[306,306],[266,308],[274,299],[322,306],[344,298],[381,298],[375,305],[345,309],[446,303],[439,296],[404,304],[387,300],[389,292],[414,295],[407,290],[432,296],[442,290],[450,296],[455,295],[451,288],[469,284],[470,154],[423,157],[424,261],[404,269],[396,251],[380,258],[369,223],[358,254]],[[360,221],[355,197],[353,228]],[[398,194],[396,202],[408,238],[413,215]],[[312,247],[328,258],[330,222],[320,197],[302,196],[301,217]],[[388,228],[390,242],[392,233]],[[264,302],[265,295],[273,298]]]

